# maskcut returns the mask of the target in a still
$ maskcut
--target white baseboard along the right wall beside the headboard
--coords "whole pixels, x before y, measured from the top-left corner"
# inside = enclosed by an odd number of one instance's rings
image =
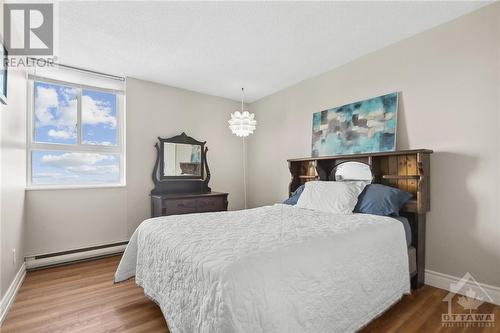
[[[451,284],[456,284],[458,281],[460,281],[460,279],[461,278],[453,275],[434,272],[428,269],[425,270],[425,284],[428,284],[432,287],[450,291]],[[488,293],[488,295],[491,297],[491,303],[500,305],[500,287],[479,282],[476,284],[471,281],[467,281],[465,283],[465,286],[466,288],[459,290],[457,294],[464,295],[463,293],[466,292],[469,288],[474,290],[476,293],[481,294],[479,288],[483,288],[483,290],[486,291],[486,293]]]

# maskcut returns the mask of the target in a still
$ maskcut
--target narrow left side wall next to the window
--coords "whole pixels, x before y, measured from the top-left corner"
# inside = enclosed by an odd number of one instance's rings
[[[3,6],[0,6],[0,29],[3,29],[2,18]],[[0,296],[5,294],[24,260],[25,71],[9,70],[7,95],[8,104],[0,104]]]

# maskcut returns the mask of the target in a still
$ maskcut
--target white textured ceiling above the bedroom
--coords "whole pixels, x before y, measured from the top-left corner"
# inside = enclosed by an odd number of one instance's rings
[[[485,2],[61,2],[59,62],[248,102]]]

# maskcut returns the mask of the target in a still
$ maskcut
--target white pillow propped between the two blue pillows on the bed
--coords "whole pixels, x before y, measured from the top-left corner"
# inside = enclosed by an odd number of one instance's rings
[[[352,214],[366,182],[307,182],[297,207],[333,214]]]

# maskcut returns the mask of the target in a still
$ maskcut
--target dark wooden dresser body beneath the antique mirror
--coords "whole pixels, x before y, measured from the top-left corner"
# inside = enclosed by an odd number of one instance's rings
[[[151,216],[226,211],[227,196],[221,192],[151,194]]]

